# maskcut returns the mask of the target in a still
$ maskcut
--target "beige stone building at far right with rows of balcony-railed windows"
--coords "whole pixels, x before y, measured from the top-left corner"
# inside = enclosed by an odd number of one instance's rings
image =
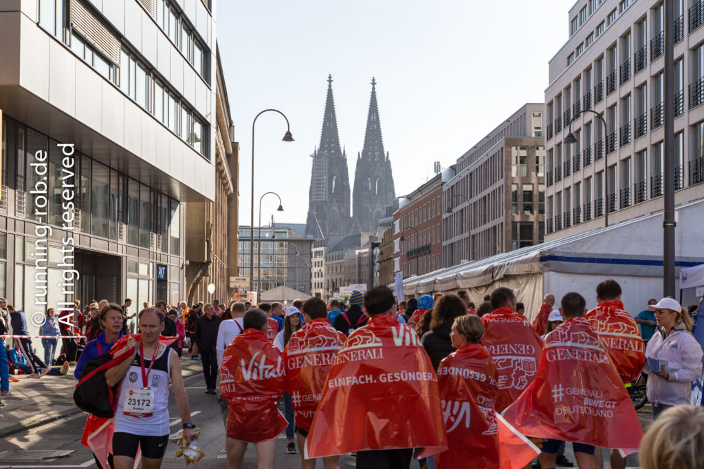
[[[704,197],[704,3],[674,1],[675,204]],[[546,238],[662,210],[664,12],[580,0],[546,89]],[[607,129],[593,113],[603,115]],[[568,127],[577,143],[565,143]]]

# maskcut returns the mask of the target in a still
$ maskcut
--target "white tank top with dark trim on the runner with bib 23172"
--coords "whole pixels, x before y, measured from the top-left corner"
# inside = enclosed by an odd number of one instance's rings
[[[154,411],[150,417],[127,416],[122,411],[125,407],[125,397],[129,390],[139,390],[142,385],[142,367],[139,365],[139,349],[134,356],[130,368],[125,373],[125,378],[120,382],[120,397],[118,407],[115,409],[115,432],[132,433],[145,437],[163,437],[169,434],[169,361],[171,356],[170,347],[162,347],[154,365],[151,367],[147,381],[147,386],[151,387],[154,393]],[[144,359],[144,371],[149,369],[148,358]]]

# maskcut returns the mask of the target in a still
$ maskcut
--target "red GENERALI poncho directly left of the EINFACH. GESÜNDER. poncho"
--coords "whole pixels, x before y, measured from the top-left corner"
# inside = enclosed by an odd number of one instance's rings
[[[346,335],[327,318],[313,319],[291,335],[284,350],[286,390],[296,411],[296,427],[308,431],[325,387],[327,373]]]

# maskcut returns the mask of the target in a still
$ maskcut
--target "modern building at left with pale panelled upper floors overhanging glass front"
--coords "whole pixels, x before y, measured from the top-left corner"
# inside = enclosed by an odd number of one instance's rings
[[[184,298],[184,205],[215,200],[212,3],[1,2],[0,295],[15,308]]]

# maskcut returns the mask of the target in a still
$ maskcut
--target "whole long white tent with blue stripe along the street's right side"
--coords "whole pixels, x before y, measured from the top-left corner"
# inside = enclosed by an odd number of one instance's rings
[[[676,268],[704,263],[704,201],[677,208]],[[614,278],[631,314],[645,309],[651,297],[662,296],[662,213],[593,229],[541,245],[465,262],[403,281],[406,297],[465,290],[477,302],[500,286],[516,290],[532,318],[542,297],[581,293],[596,306],[596,284]]]

